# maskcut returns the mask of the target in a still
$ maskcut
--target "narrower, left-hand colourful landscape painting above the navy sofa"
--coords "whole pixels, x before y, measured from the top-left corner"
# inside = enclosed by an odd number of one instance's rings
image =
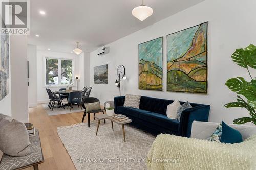
[[[163,37],[139,44],[139,89],[162,91]]]

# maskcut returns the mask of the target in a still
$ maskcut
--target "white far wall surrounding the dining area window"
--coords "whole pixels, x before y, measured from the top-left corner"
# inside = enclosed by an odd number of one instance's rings
[[[74,67],[74,85],[73,89],[76,89],[76,80],[75,77],[80,78],[81,72],[80,70],[84,70],[83,68],[83,53],[80,55],[75,55],[73,53],[61,53],[61,52],[51,52],[51,51],[40,51],[37,50],[37,103],[47,103],[49,101],[49,96],[46,93],[45,86],[45,68],[44,68],[44,58],[52,57],[52,58],[63,58],[63,59],[73,59],[73,67]],[[82,81],[78,81],[78,87],[81,89],[83,86],[83,76]],[[55,86],[55,87],[47,87],[52,91],[57,91],[60,88],[66,88],[66,86]]]

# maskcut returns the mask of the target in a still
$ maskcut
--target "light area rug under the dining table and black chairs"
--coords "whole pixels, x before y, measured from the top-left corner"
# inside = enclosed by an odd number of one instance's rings
[[[42,107],[45,109],[48,116],[55,116],[55,115],[59,115],[59,114],[82,112],[81,108],[78,108],[78,106],[73,106],[71,111],[70,111],[70,107],[68,109],[67,106],[65,106],[65,109],[63,109],[63,107],[61,107],[61,108],[56,108],[55,107],[55,108],[53,108],[53,111],[52,111],[52,109],[48,108],[48,104],[42,104]]]

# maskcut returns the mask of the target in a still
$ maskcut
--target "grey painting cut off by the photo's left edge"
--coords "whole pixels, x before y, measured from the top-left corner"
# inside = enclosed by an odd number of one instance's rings
[[[1,35],[0,100],[9,94],[9,35]]]

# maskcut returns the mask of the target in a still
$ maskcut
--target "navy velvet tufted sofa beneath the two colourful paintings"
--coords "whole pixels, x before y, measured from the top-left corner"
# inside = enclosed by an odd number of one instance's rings
[[[125,96],[114,98],[115,113],[126,115],[132,119],[132,125],[155,135],[167,133],[190,137],[194,120],[208,122],[209,105],[190,103],[192,108],[182,112],[179,122],[166,116],[167,106],[173,103],[173,100],[141,96],[140,109],[124,107],[124,100]],[[183,103],[180,102],[181,105]]]

